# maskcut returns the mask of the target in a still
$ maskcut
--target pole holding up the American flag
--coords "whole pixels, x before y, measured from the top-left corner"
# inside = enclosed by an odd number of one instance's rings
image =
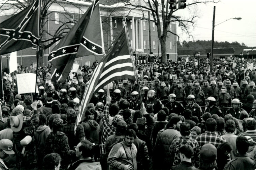
[[[123,18],[123,22],[124,22],[124,26],[125,26],[125,35],[126,35],[126,41],[127,41],[127,45],[128,45],[128,50],[129,50],[129,53],[130,53],[130,56],[131,56],[131,60],[132,60],[132,66],[133,66],[133,71],[134,71],[134,75],[135,75],[135,79],[137,80],[137,83],[138,83],[138,87],[139,87],[139,98],[140,98],[140,101],[141,101],[141,104],[143,103],[142,102],[142,97],[141,97],[141,93],[140,93],[140,86],[139,86],[139,80],[138,80],[138,75],[137,75],[137,72],[136,72],[136,67],[135,67],[135,61],[133,60],[133,54],[132,54],[132,49],[131,49],[131,43],[130,43],[130,37],[129,37],[129,32],[127,31],[127,25],[126,25],[126,19]]]

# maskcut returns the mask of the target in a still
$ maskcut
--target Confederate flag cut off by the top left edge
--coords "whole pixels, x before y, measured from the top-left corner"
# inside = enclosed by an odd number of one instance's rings
[[[1,55],[38,46],[38,1],[0,24]]]

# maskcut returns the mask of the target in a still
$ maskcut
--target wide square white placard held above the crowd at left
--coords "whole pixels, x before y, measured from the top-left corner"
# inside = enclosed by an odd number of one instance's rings
[[[38,92],[38,87],[36,85],[36,74],[34,73],[23,73],[17,74],[17,86],[18,86],[18,93],[35,93],[35,86],[36,86],[36,93]]]

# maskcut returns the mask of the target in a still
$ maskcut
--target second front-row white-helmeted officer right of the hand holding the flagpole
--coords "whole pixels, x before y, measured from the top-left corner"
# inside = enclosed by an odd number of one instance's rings
[[[170,94],[168,96],[168,103],[165,104],[165,107],[169,109],[169,113],[177,113],[178,115],[181,115],[184,111],[184,106],[175,100],[176,95]]]

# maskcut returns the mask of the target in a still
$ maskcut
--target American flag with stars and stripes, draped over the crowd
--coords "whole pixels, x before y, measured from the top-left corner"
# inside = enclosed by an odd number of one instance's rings
[[[99,65],[93,72],[92,78],[89,80],[81,102],[76,125],[81,121],[94,92],[98,92],[106,84],[114,80],[124,78],[135,79],[135,66],[129,42],[127,26],[125,26],[108,49],[106,55],[99,62]]]

